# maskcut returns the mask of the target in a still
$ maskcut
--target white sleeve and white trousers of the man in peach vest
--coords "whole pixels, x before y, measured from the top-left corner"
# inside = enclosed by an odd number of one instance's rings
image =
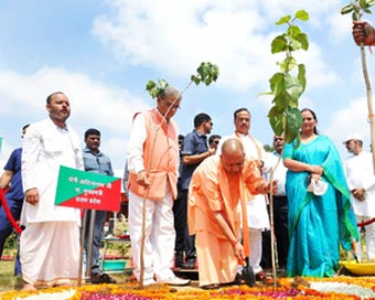
[[[144,170],[143,143],[147,139],[144,117],[138,114],[133,119],[127,151],[127,163],[130,172]],[[171,270],[174,256],[175,231],[173,223],[173,199],[169,185],[165,186],[165,197],[160,201],[146,199],[144,219],[144,260],[143,283],[148,285],[156,277],[164,281],[174,277]],[[143,199],[129,193],[129,232],[131,239],[131,256],[133,274],[140,279],[140,256],[142,238]]]

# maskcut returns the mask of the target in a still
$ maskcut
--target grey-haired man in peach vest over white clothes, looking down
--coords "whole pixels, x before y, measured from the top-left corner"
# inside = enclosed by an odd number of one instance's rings
[[[165,87],[154,109],[136,114],[128,144],[131,255],[133,274],[143,286],[156,281],[190,283],[171,270],[175,244],[172,206],[179,165],[178,126],[172,117],[181,99],[176,88]]]

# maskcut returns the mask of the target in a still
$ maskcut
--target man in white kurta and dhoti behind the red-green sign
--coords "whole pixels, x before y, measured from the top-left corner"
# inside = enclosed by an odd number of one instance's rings
[[[56,206],[61,165],[83,170],[78,136],[65,124],[67,97],[47,97],[50,118],[32,124],[23,140],[22,183],[25,203],[20,256],[24,290],[76,283],[79,270],[79,210]]]

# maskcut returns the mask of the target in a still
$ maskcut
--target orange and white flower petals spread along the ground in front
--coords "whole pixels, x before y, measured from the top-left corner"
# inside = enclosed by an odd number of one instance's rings
[[[218,290],[176,290],[165,285],[139,289],[135,282],[124,285],[84,286],[79,288],[51,288],[33,292],[9,291],[0,293],[3,300],[146,300],[146,299],[375,299],[373,277],[303,278],[310,285],[293,285],[291,278],[278,279],[278,287],[234,286]]]

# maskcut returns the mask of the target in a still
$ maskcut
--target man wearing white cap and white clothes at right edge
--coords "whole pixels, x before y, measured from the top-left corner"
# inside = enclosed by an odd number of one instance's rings
[[[375,175],[373,157],[362,149],[361,135],[350,135],[343,142],[347,152],[352,153],[344,161],[344,171],[347,185],[354,204],[357,223],[363,223],[375,217]],[[375,223],[366,225],[367,258],[375,258]],[[361,245],[361,240],[360,240]],[[361,247],[357,247],[357,257],[362,259]]]

